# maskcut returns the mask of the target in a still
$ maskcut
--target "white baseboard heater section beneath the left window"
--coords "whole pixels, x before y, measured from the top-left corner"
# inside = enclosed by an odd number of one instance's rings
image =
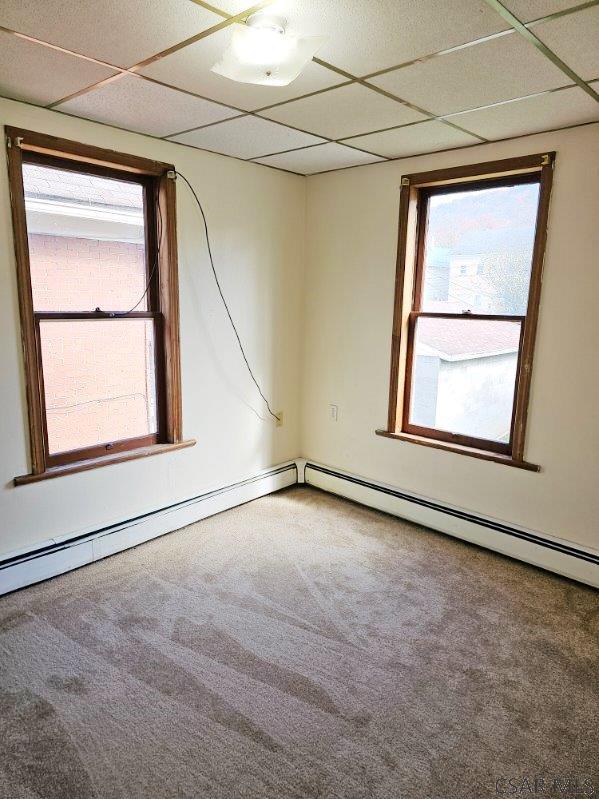
[[[117,524],[20,552],[0,561],[0,595],[56,577],[188,524],[297,483],[295,461]]]

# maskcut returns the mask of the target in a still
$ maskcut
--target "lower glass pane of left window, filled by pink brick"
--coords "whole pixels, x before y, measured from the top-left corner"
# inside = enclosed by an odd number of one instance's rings
[[[151,319],[41,321],[51,454],[155,433]]]

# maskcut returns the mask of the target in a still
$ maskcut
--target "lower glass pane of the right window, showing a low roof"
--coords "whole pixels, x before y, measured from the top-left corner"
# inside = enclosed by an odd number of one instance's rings
[[[410,424],[509,442],[519,342],[520,322],[418,319]]]

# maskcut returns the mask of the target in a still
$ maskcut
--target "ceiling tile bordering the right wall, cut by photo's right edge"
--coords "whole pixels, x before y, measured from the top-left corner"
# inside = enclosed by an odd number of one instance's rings
[[[487,139],[540,133],[594,120],[599,120],[599,103],[578,87],[451,117],[452,122]]]

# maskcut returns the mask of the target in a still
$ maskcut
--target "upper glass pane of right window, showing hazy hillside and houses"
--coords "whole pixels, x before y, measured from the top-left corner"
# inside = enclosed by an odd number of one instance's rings
[[[538,200],[538,183],[432,195],[421,310],[524,316]]]

